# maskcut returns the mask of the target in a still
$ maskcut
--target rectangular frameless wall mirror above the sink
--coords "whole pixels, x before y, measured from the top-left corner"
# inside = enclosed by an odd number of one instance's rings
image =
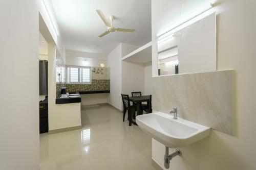
[[[216,13],[159,39],[158,75],[214,70]]]

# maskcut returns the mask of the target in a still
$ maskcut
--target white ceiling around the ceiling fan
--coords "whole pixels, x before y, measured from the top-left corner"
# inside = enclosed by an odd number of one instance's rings
[[[59,29],[67,50],[110,53],[120,42],[144,45],[151,41],[151,0],[52,0]],[[96,9],[116,17],[116,28],[136,29],[134,33],[106,31]]]

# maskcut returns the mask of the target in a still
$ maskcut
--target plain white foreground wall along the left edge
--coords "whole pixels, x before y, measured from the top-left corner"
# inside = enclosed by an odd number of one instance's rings
[[[0,169],[39,169],[37,1],[0,1]]]

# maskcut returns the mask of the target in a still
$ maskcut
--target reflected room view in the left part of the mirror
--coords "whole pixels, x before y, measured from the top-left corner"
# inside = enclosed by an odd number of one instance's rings
[[[179,74],[178,46],[158,52],[158,75]]]

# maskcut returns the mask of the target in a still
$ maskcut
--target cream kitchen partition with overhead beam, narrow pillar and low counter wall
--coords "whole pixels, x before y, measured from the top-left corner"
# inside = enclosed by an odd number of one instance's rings
[[[46,0],[46,6],[52,18],[50,18],[43,1],[38,1],[39,30],[48,42],[48,111],[49,131],[61,128],[76,127],[81,125],[80,103],[56,105],[56,63],[55,54],[58,49],[63,61],[66,61],[65,46],[58,29],[53,5]],[[37,14],[38,17],[38,14]],[[40,17],[42,19],[40,19]],[[56,30],[54,29],[55,25]]]

